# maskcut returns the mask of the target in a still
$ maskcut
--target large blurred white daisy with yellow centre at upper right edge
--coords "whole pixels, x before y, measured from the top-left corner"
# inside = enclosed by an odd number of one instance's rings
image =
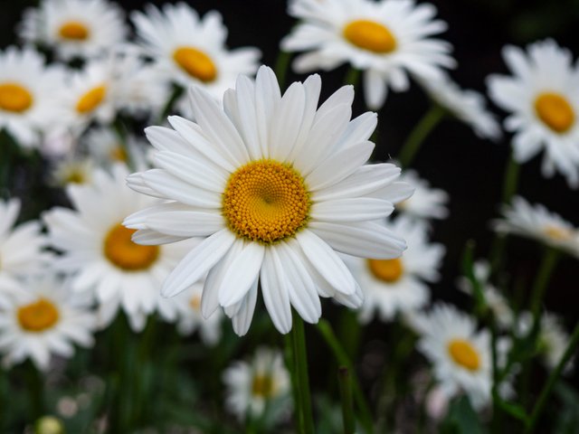
[[[510,116],[505,128],[515,133],[514,156],[525,163],[543,148],[543,175],[555,171],[579,185],[579,71],[571,52],[555,41],[523,50],[507,46],[503,58],[513,76],[489,77],[490,98]]]

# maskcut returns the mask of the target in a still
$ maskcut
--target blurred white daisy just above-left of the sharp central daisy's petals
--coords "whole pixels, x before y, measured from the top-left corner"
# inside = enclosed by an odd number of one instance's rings
[[[185,3],[164,5],[162,10],[148,5],[146,14],[135,12],[131,19],[142,47],[167,81],[185,88],[203,86],[214,99],[221,100],[238,74],[257,71],[261,52],[256,48],[227,50],[227,29],[216,11],[201,19]]]

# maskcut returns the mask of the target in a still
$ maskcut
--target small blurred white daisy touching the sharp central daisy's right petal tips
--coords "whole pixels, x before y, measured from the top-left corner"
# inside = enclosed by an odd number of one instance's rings
[[[446,219],[449,210],[449,194],[440,188],[432,188],[428,181],[414,170],[404,170],[400,180],[411,184],[414,193],[405,201],[396,204],[396,209],[419,219]]]

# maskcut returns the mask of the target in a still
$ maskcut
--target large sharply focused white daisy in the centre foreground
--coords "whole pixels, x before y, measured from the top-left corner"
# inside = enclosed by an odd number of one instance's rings
[[[240,75],[224,95],[224,111],[192,87],[196,123],[170,117],[175,129],[148,127],[158,168],[128,179],[135,190],[169,201],[129,217],[129,228],[157,234],[151,243],[204,237],[163,294],[174,296],[208,273],[202,312],[223,307],[238,335],[251,324],[258,283],[285,334],[292,306],[309,323],[321,316],[320,296],[360,306],[360,288],[337,251],[392,259],[405,248],[384,217],[412,188],[394,183],[394,165],[365,165],[375,114],[350,120],[352,86],[318,108],[320,87],[314,75],[281,96],[273,71],[261,67],[255,82]]]

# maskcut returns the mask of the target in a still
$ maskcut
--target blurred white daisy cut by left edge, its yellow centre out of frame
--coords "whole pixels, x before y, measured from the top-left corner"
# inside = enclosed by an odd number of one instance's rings
[[[0,201],[0,307],[18,280],[41,272],[50,257],[43,251],[46,241],[39,222],[15,226],[19,212],[20,200]]]

